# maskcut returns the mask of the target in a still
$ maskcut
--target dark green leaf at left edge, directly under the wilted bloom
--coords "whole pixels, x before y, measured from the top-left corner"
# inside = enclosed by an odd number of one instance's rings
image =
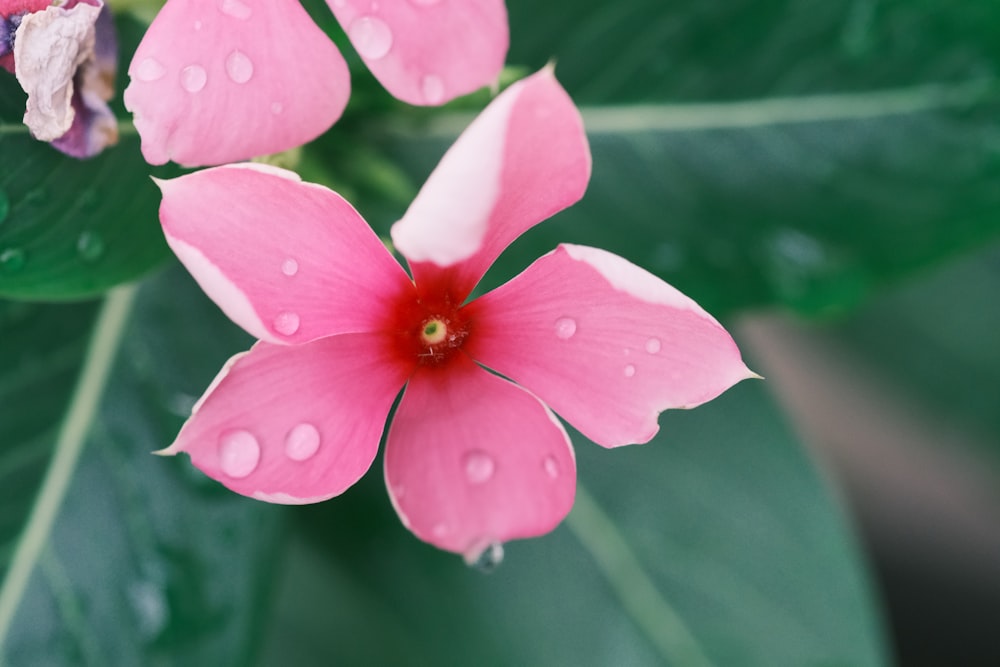
[[[119,27],[123,42],[141,36],[134,22]],[[123,50],[120,61],[130,53]],[[132,125],[119,124],[116,146],[78,160],[30,136],[24,104],[15,78],[0,72],[0,297],[94,296],[162,264],[169,250],[160,195]]]

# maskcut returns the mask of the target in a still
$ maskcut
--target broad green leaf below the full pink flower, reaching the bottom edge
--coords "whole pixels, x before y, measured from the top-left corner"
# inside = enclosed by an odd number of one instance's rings
[[[643,446],[575,438],[569,519],[490,575],[412,537],[378,474],[296,510],[262,664],[884,664],[852,536],[765,391]]]

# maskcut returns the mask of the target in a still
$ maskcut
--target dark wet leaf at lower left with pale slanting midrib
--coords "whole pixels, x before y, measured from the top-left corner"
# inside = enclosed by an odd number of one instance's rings
[[[258,643],[280,509],[150,454],[248,339],[179,270],[133,291],[92,330],[93,304],[0,307],[4,664],[247,664]]]

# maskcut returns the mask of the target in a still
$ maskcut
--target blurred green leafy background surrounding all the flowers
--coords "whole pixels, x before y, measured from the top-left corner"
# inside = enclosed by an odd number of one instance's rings
[[[384,233],[489,96],[398,103],[305,4],[354,91],[284,159]],[[574,434],[577,507],[488,575],[402,527],[380,460],[321,505],[237,497],[149,455],[251,342],[169,257],[147,177],[176,169],[150,170],[127,125],[85,163],[34,142],[4,76],[4,664],[1000,662],[1000,9],[507,6],[508,78],[556,62],[594,176],[484,285],[561,241],[613,250],[723,319],[767,380],[664,414],[641,447]],[[142,24],[118,18],[127,63]],[[60,435],[82,453],[22,575]]]

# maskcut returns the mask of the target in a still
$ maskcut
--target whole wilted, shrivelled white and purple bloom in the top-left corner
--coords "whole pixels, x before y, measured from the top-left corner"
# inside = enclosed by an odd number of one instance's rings
[[[102,0],[0,0],[0,67],[28,93],[32,136],[84,158],[118,141],[118,45]]]

